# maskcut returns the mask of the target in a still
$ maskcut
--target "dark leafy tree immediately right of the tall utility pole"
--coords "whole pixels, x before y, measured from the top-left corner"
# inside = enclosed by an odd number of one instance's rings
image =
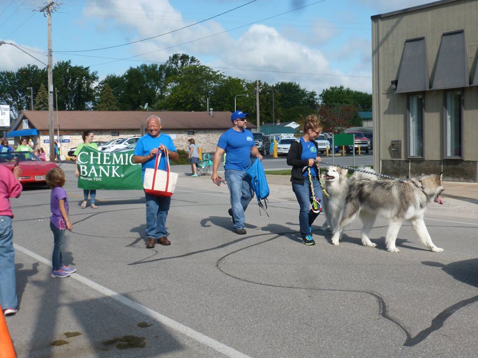
[[[59,61],[53,66],[53,86],[58,90],[59,110],[89,110],[96,100],[98,73],[89,67]]]

